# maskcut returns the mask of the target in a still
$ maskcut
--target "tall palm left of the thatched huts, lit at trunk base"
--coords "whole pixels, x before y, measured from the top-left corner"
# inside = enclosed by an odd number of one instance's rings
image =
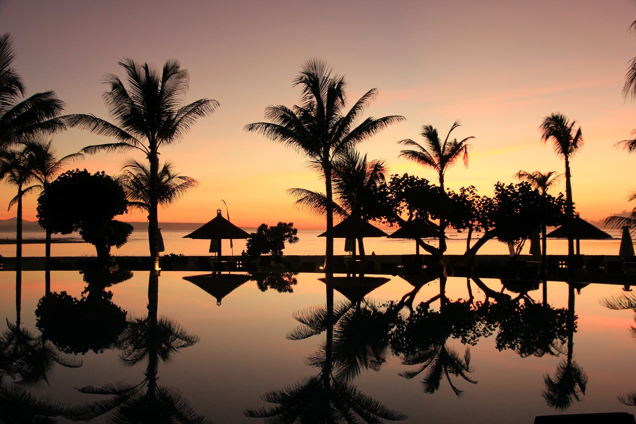
[[[100,151],[141,151],[149,162],[148,181],[148,243],[153,268],[159,266],[157,181],[160,174],[159,149],[179,142],[198,118],[208,116],[219,106],[211,99],[200,99],[181,106],[188,92],[189,75],[181,69],[178,60],[168,60],[159,74],[149,64],[138,64],[125,58],[119,64],[127,74],[127,86],[114,74],[106,74],[104,83],[110,91],[104,93],[104,101],[113,118],[114,125],[93,115],[75,114],[66,116],[70,127],[114,137],[117,142],[86,146],[84,153]]]

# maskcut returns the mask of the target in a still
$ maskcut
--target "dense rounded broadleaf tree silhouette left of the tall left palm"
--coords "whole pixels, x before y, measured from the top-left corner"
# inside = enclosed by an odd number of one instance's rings
[[[64,172],[38,198],[40,226],[53,234],[79,229],[79,235],[95,246],[101,268],[108,266],[111,247],[121,247],[132,233],[130,224],[113,219],[126,212],[123,188],[104,172]]]

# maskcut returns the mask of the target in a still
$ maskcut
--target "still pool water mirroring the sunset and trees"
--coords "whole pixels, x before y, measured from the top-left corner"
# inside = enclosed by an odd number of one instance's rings
[[[258,423],[245,414],[274,408],[408,423],[636,412],[619,401],[636,392],[634,312],[604,306],[636,302],[618,285],[56,271],[38,306],[45,273],[16,277],[0,273],[2,413],[36,400],[93,423],[169,410],[200,421],[149,422]]]

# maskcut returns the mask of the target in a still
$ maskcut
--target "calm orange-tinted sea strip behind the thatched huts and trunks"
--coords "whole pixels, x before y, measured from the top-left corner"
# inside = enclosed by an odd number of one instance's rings
[[[387,231],[392,233],[393,230]],[[208,255],[209,240],[193,240],[183,238],[191,231],[162,231],[165,244],[165,254],[176,253],[186,256]],[[581,253],[588,255],[618,255],[620,246],[621,231],[607,230],[615,238],[607,240],[581,240]],[[284,254],[286,255],[321,255],[324,254],[325,239],[318,237],[322,230],[299,230],[300,241],[295,244],[286,244]],[[466,233],[457,231],[447,231],[448,254],[463,254],[466,251]],[[41,231],[25,231],[24,238],[42,238]],[[81,240],[77,233],[62,237],[74,237]],[[479,235],[478,235],[479,236]],[[55,237],[55,235],[54,235]],[[15,231],[0,231],[0,238],[15,238]],[[474,238],[471,244],[474,243]],[[436,245],[436,242],[432,242]],[[335,253],[345,254],[345,240],[338,238],[335,240]],[[233,240],[233,252],[239,255],[245,249],[245,240]],[[367,254],[375,252],[378,255],[397,255],[415,253],[415,242],[413,240],[401,240],[397,238],[365,238],[364,249]],[[22,247],[24,256],[44,256],[43,244],[27,244]],[[230,240],[223,240],[223,254],[231,254]],[[548,254],[567,254],[567,240],[548,239]],[[523,253],[529,253],[530,242],[527,242]],[[95,256],[95,248],[87,243],[60,243],[53,244],[51,248],[52,256]],[[423,251],[422,251],[423,252]],[[148,256],[148,233],[146,231],[135,231],[128,239],[128,243],[121,249],[114,249],[111,252],[120,256]],[[508,246],[497,240],[489,240],[481,249],[479,254],[508,254]],[[0,245],[0,255],[15,256],[15,245]]]

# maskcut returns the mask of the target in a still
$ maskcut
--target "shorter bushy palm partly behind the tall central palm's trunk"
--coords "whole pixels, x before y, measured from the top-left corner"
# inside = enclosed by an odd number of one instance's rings
[[[384,161],[368,161],[366,154],[361,156],[353,149],[338,156],[333,162],[331,177],[335,195],[333,212],[341,217],[354,216],[365,221],[380,217],[381,213],[377,211],[380,202],[374,188],[385,181],[386,172]],[[301,188],[289,189],[287,193],[296,198],[296,205],[317,215],[326,215],[327,198],[324,194]],[[363,238],[358,239],[358,246],[364,262]]]

